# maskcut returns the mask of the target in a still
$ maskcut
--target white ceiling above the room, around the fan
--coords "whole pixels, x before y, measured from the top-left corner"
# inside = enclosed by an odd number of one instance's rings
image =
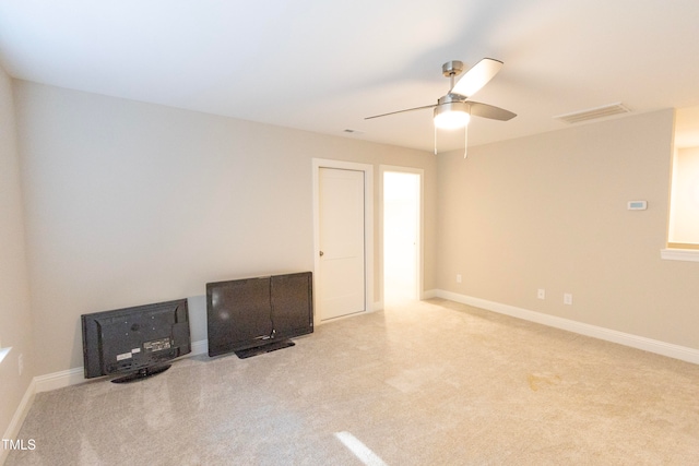
[[[474,118],[477,145],[613,103],[699,106],[698,31],[697,0],[0,0],[0,63],[21,80],[431,151],[430,110],[364,118],[435,104],[446,61],[505,62],[474,99],[518,117]],[[463,132],[438,144],[463,147]]]

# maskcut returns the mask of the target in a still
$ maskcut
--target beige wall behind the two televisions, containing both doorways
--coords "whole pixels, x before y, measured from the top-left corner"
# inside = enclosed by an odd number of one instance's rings
[[[200,340],[206,282],[312,270],[312,158],[372,164],[376,183],[380,164],[425,170],[435,286],[431,154],[26,82],[16,91],[38,374],[82,367],[82,313],[194,297]]]

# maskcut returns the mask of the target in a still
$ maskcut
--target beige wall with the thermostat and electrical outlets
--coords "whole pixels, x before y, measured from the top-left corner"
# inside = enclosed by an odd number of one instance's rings
[[[438,288],[699,348],[699,263],[660,258],[672,138],[662,110],[440,156]]]

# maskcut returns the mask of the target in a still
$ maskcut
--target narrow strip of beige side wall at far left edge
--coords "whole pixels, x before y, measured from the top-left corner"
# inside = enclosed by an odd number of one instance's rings
[[[35,374],[12,81],[2,69],[0,213],[0,339],[3,347],[12,347],[5,359],[0,362],[0,434],[3,434]],[[22,377],[19,375],[17,368],[20,355],[24,359]],[[2,457],[3,449],[0,447],[0,463]]]

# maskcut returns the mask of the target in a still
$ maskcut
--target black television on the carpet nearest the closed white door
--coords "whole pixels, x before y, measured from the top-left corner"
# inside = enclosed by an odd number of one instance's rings
[[[313,332],[311,272],[206,284],[209,356],[248,358]]]

